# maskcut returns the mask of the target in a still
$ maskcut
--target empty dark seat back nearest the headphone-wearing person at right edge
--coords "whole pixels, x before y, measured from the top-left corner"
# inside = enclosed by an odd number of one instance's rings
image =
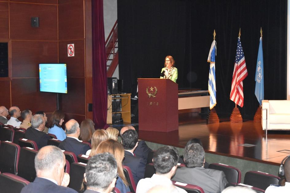
[[[280,178],[272,174],[260,172],[260,171],[249,171],[246,172],[244,178],[244,184],[266,190],[271,184],[278,185]]]

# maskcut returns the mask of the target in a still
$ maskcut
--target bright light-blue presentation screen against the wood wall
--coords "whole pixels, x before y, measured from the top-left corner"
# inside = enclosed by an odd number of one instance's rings
[[[67,64],[39,64],[41,92],[68,93]]]

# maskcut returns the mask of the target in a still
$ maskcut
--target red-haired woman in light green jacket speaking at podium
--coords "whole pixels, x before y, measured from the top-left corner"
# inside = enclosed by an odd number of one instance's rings
[[[161,69],[160,79],[170,79],[176,83],[178,76],[177,68],[175,68],[175,61],[172,56],[166,56],[164,68]]]

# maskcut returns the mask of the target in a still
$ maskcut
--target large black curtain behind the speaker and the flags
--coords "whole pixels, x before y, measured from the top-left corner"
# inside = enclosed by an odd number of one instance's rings
[[[244,119],[259,106],[254,94],[255,70],[263,30],[265,99],[286,98],[287,1],[271,0],[118,0],[119,74],[130,92],[137,78],[158,78],[164,58],[178,68],[179,88],[207,90],[207,56],[216,30],[216,110],[229,117],[234,107],[230,88],[238,33],[248,76],[244,83]]]

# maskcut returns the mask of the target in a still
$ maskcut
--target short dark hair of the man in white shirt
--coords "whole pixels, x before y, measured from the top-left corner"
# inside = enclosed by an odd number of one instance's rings
[[[153,165],[156,173],[167,174],[178,163],[178,151],[175,147],[165,146],[153,154]]]

